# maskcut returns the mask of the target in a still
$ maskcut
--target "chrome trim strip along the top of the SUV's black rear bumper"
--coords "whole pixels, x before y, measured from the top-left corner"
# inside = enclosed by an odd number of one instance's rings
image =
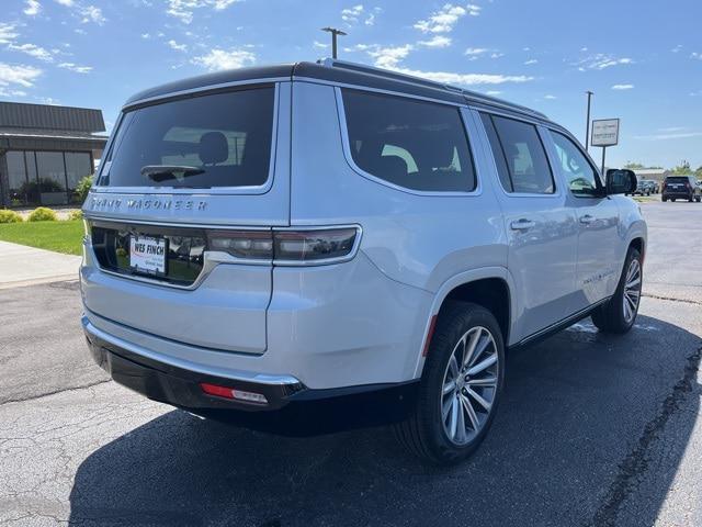
[[[147,359],[162,362],[168,366],[172,366],[173,368],[179,368],[195,373],[202,373],[203,375],[220,377],[224,379],[230,379],[233,381],[252,382],[265,385],[303,385],[299,379],[288,374],[272,375],[269,373],[258,373],[254,371],[218,370],[216,368],[196,365],[194,362],[152,351],[141,346],[137,346],[136,344],[128,343],[120,337],[115,337],[114,335],[110,335],[109,333],[105,333],[102,329],[95,327],[84,314],[81,316],[80,322],[83,326],[83,330],[90,335],[95,336],[97,338],[110,343],[118,348],[126,349],[132,354],[139,355]]]

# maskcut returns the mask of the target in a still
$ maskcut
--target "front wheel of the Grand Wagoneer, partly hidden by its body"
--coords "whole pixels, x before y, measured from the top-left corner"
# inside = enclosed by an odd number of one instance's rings
[[[641,304],[643,279],[641,254],[634,247],[630,247],[616,291],[605,304],[590,315],[600,332],[623,334],[632,328]],[[629,300],[625,300],[625,296]],[[626,306],[624,302],[627,302]]]

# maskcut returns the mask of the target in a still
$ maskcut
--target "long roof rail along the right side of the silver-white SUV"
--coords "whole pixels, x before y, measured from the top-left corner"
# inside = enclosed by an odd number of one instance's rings
[[[536,111],[536,110],[532,110],[531,108],[528,106],[522,106],[521,104],[516,104],[513,102],[508,102],[505,101],[502,99],[497,99],[495,97],[490,97],[490,96],[485,96],[483,93],[478,93],[476,91],[471,91],[471,90],[466,90],[464,88],[457,87],[457,86],[453,86],[453,85],[446,85],[446,83],[441,83],[441,82],[437,82],[433,80],[429,80],[429,79],[424,79],[421,77],[417,77],[415,75],[408,75],[408,74],[404,74],[400,71],[393,71],[389,69],[384,69],[384,68],[378,68],[375,66],[369,66],[366,64],[361,64],[361,63],[352,63],[349,60],[339,60],[338,58],[322,58],[319,59],[317,61],[318,64],[326,66],[328,68],[343,68],[343,69],[350,69],[353,71],[359,71],[361,74],[366,74],[366,75],[374,75],[376,77],[383,77],[386,79],[393,79],[393,80],[398,80],[400,82],[408,82],[408,83],[412,83],[412,85],[417,85],[417,86],[422,86],[426,88],[432,88],[435,90],[441,90],[441,91],[450,91],[452,93],[458,93],[463,97],[465,97],[467,100],[473,101],[473,102],[477,102],[477,103],[482,103],[482,104],[487,104],[490,106],[501,106],[508,110],[512,110],[512,111],[517,111],[520,113],[526,113],[529,115],[539,117],[539,119],[544,119],[544,120],[548,120],[548,117]]]

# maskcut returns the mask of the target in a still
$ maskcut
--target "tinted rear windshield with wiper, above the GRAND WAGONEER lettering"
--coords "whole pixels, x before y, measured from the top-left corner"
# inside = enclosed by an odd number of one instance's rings
[[[98,184],[261,186],[269,177],[273,99],[273,87],[264,87],[129,111]]]

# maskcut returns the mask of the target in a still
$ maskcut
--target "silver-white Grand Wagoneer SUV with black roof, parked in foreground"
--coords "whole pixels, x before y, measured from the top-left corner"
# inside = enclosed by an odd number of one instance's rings
[[[635,184],[539,112],[362,65],[174,82],[127,101],[86,202],[83,327],[149,399],[284,434],[394,422],[456,461],[509,349],[632,327]]]

